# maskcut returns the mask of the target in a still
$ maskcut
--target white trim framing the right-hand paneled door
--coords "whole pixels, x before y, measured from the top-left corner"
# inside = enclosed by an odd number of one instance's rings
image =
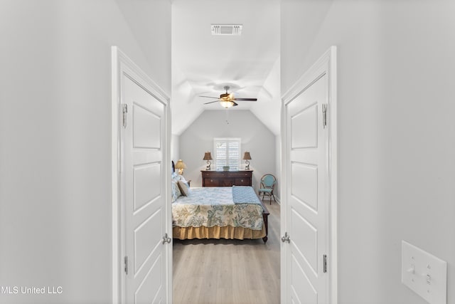
[[[338,182],[337,182],[337,120],[336,120],[336,95],[337,95],[337,83],[336,83],[336,46],[331,46],[328,51],[323,53],[321,58],[314,63],[301,77],[296,80],[294,85],[282,95],[282,184],[287,185],[287,179],[289,172],[287,172],[287,161],[289,153],[286,151],[287,142],[289,142],[289,130],[287,130],[287,119],[286,119],[286,105],[290,103],[294,98],[300,95],[309,85],[314,83],[315,78],[321,77],[321,75],[328,75],[328,234],[329,239],[327,243],[328,248],[328,303],[338,303],[338,235],[337,235],[337,195],[338,195]],[[288,197],[288,187],[282,187],[282,197],[284,200]],[[284,201],[283,205],[286,205]],[[283,206],[282,205],[282,206]],[[283,236],[287,229],[289,221],[289,214],[287,214],[287,208],[282,208],[282,221],[281,221],[281,235]],[[287,286],[289,285],[286,265],[289,246],[287,243],[282,243],[281,246],[281,302],[287,303],[289,295],[287,294]]]

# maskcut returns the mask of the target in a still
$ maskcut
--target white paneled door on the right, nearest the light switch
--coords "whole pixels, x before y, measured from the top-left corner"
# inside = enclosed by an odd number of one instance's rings
[[[326,67],[310,70],[284,98],[284,303],[331,303]]]

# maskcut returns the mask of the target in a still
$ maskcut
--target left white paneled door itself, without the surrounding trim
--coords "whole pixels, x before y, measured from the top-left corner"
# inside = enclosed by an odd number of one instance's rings
[[[162,303],[166,199],[161,119],[164,105],[124,78],[126,303]]]

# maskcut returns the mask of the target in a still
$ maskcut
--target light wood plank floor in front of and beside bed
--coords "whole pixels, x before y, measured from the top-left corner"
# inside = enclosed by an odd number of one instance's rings
[[[269,209],[269,239],[175,240],[174,304],[279,303],[279,205]]]

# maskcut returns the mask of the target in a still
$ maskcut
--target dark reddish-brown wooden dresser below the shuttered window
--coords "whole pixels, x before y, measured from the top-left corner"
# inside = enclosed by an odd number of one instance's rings
[[[200,172],[202,173],[202,187],[252,186],[252,170],[201,170]]]

